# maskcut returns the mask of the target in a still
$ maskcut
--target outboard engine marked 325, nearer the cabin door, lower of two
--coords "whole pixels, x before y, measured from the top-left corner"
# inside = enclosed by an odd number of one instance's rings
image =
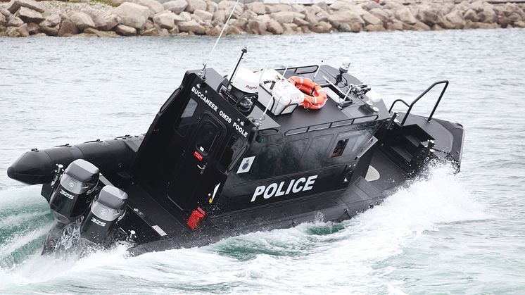
[[[80,227],[80,237],[96,244],[106,244],[117,222],[124,217],[127,194],[106,185],[91,204],[91,209]]]

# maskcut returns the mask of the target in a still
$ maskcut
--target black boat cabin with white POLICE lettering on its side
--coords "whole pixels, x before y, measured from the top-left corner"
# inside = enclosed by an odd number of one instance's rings
[[[390,117],[384,103],[329,65],[275,72],[286,82],[315,82],[327,95],[324,105],[279,109],[270,93],[282,85],[260,79],[252,105],[241,108],[227,78],[189,71],[148,130],[134,180],[175,211],[207,206],[220,214],[342,189],[366,173],[374,133]]]

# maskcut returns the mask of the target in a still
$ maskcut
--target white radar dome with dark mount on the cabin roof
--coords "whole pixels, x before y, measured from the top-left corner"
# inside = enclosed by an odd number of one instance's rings
[[[227,95],[230,103],[244,115],[251,113],[258,99],[260,78],[247,68],[239,68],[229,75],[229,80],[232,85]]]

